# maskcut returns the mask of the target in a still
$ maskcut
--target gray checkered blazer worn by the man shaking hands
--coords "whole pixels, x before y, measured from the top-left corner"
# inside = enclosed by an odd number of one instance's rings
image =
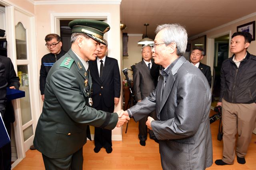
[[[163,87],[128,109],[135,121],[156,109],[151,127],[159,139],[163,170],[204,170],[212,165],[211,90],[204,74],[180,57]]]

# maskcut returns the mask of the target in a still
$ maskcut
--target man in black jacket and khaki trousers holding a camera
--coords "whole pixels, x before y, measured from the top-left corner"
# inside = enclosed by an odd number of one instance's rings
[[[217,106],[222,106],[223,157],[215,161],[217,165],[233,164],[235,153],[239,164],[246,163],[256,121],[256,56],[247,51],[251,37],[248,32],[234,33],[230,42],[234,55],[222,63]]]

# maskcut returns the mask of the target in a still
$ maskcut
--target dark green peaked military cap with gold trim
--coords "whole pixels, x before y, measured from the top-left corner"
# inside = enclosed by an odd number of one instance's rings
[[[96,20],[78,19],[70,21],[68,26],[72,29],[72,33],[85,33],[95,41],[106,45],[103,41],[103,35],[110,29],[107,23]]]

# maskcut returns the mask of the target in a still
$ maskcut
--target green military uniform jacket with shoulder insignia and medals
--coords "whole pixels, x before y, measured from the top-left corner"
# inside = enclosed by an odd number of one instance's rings
[[[52,66],[34,138],[34,146],[42,154],[63,158],[78,151],[86,143],[87,125],[114,129],[116,113],[88,106],[91,82],[89,71],[71,49]]]

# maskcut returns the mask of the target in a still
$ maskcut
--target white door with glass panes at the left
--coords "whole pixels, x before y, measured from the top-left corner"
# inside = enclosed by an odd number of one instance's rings
[[[36,128],[36,106],[38,104],[38,91],[34,87],[38,84],[36,80],[37,66],[35,51],[35,39],[33,36],[34,26],[32,26],[34,17],[28,16],[18,10],[14,10],[15,18],[15,39],[16,39],[16,64],[17,72],[20,78],[20,90],[25,91],[25,97],[20,98],[18,123],[20,125],[21,142],[24,143],[24,150],[28,150],[33,145],[34,132]],[[34,64],[34,65],[33,65]],[[17,123],[17,124],[18,124]]]

